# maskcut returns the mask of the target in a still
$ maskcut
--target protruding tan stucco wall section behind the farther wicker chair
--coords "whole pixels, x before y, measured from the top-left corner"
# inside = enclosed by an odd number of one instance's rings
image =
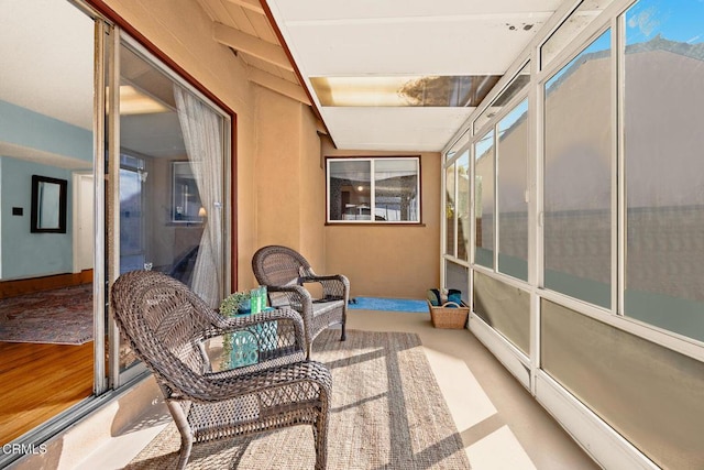
[[[315,117],[309,107],[266,88],[256,87],[255,96],[256,248],[290,247],[322,272],[324,173]],[[248,267],[251,276],[251,264]]]

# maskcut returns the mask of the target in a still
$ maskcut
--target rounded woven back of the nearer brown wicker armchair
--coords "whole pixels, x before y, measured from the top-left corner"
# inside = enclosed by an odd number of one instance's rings
[[[111,305],[134,353],[167,385],[184,390],[208,369],[200,335],[218,321],[185,284],[155,271],[132,271],[113,284]]]

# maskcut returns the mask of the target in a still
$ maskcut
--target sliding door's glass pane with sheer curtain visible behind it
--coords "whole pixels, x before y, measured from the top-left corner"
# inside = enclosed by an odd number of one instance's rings
[[[112,243],[112,276],[160,271],[217,307],[224,287],[229,120],[129,37],[118,59],[119,156],[112,161],[119,168],[111,174],[119,177],[119,217],[112,219],[119,241]],[[118,383],[141,370],[124,340],[116,341],[113,358]]]

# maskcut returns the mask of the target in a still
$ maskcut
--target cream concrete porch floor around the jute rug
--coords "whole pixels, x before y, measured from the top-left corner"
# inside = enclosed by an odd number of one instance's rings
[[[420,336],[473,470],[598,469],[469,330],[436,329],[429,314],[371,310],[350,310],[348,328]],[[122,468],[169,420],[163,413],[154,407],[72,468]]]

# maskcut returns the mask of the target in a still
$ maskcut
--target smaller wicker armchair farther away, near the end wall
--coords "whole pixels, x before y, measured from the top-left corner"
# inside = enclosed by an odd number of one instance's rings
[[[310,357],[312,340],[332,325],[341,325],[341,340],[345,339],[350,281],[342,275],[317,275],[310,263],[298,252],[280,245],[263,247],[252,258],[256,281],[267,288],[273,307],[290,306],[304,318],[306,349]],[[312,298],[306,283],[322,286],[320,298]]]

